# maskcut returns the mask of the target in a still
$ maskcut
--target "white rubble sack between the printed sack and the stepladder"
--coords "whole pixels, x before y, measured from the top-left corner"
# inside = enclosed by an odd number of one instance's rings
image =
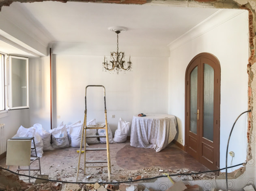
[[[82,130],[83,130],[83,123],[74,123],[70,125],[69,127],[69,133],[70,133],[70,146],[71,147],[80,147],[81,144],[81,138],[82,138]],[[84,147],[84,139],[82,143],[82,147]],[[89,147],[89,145],[86,143],[86,147]]]

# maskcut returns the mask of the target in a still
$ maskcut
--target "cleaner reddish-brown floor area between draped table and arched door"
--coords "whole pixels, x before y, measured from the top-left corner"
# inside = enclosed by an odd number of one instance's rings
[[[192,171],[209,170],[173,143],[160,152],[125,145],[116,153],[116,163],[127,170],[152,166],[168,169],[189,168]]]

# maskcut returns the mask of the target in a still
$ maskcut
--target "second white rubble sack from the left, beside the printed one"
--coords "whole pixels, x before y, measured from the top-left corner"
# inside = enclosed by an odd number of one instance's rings
[[[43,140],[43,151],[51,151],[54,149],[51,145],[51,133],[47,132],[41,124],[34,124],[31,128],[34,128],[34,130],[41,136]]]

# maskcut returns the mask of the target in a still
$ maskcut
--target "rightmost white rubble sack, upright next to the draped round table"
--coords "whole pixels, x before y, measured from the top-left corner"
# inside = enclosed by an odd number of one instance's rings
[[[116,143],[123,143],[127,140],[130,124],[130,122],[126,122],[122,118],[119,119],[117,130],[113,138]]]

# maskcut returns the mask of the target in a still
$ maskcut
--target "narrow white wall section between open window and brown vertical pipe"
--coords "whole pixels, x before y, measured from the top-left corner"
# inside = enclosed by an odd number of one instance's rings
[[[26,127],[40,123],[43,128],[51,129],[49,56],[29,59],[29,105]]]

